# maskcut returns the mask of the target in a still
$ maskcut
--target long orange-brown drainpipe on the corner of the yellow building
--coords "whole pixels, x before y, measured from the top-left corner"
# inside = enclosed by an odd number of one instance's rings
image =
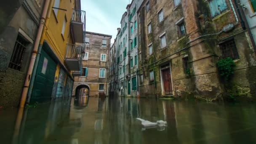
[[[30,59],[29,69],[28,69],[28,72],[27,72],[27,77],[25,79],[24,86],[23,86],[23,91],[22,91],[22,95],[21,95],[21,101],[20,101],[20,107],[21,108],[24,107],[25,102],[26,102],[27,92],[28,92],[28,89],[29,89],[29,83],[30,83],[30,80],[31,80],[31,75],[32,75],[33,68],[35,66],[35,59],[37,57],[37,50],[38,50],[38,46],[40,44],[41,36],[42,36],[42,33],[43,33],[43,29],[44,29],[44,25],[45,25],[45,18],[46,18],[46,15],[47,15],[47,10],[49,8],[50,1],[51,0],[45,0],[45,4],[44,4],[44,7],[43,7],[42,16],[41,16],[41,19],[40,19],[40,25],[39,25],[38,30],[37,30],[37,36],[36,36],[36,39],[35,39],[33,53],[32,53],[31,59]]]

